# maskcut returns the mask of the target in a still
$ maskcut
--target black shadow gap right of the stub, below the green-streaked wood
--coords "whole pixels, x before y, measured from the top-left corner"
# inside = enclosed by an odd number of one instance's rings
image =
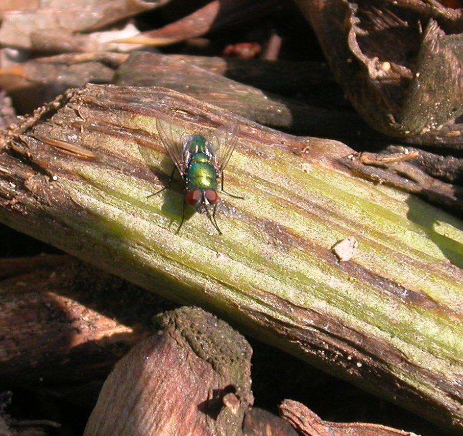
[[[452,435],[296,357],[247,339],[253,348],[252,390],[256,407],[278,415],[277,406],[284,399],[291,399],[303,403],[325,421],[376,423],[421,436]]]

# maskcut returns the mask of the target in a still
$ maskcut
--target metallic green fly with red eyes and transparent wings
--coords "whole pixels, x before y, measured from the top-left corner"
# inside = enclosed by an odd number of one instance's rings
[[[221,235],[222,232],[215,220],[219,199],[217,180],[221,179],[221,191],[228,193],[224,191],[224,168],[236,145],[239,133],[238,124],[235,122],[222,126],[207,137],[202,134],[189,135],[179,125],[162,118],[156,118],[156,128],[170,159],[173,160],[183,180],[185,197],[182,221],[175,233],[177,234],[182,228],[185,220],[185,207],[189,205],[197,212],[206,212],[209,221]],[[175,168],[167,185],[151,196],[170,187]],[[229,193],[228,195],[243,198]]]

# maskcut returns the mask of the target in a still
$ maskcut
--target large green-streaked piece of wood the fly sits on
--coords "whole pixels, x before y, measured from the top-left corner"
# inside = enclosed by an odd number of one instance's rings
[[[223,196],[222,236],[203,214],[187,214],[174,234],[178,179],[148,198],[173,168],[156,117],[174,114],[185,132],[206,136],[239,121],[224,182],[245,198]],[[3,223],[463,428],[463,224],[353,176],[344,144],[276,132],[164,88],[101,85],[68,92],[3,141]],[[331,247],[347,236],[359,250],[339,262]]]

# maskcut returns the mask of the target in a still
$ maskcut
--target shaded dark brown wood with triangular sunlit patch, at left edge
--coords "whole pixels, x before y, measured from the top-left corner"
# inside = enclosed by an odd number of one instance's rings
[[[0,379],[57,386],[105,377],[151,331],[162,301],[65,255],[1,259]],[[124,302],[125,304],[121,304]]]

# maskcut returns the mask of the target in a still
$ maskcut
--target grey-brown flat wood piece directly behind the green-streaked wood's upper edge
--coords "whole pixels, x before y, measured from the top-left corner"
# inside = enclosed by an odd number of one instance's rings
[[[322,136],[328,129],[331,134],[343,135],[361,122],[357,115],[351,112],[337,113],[287,99],[238,83],[209,69],[188,64],[175,56],[132,53],[116,71],[114,83],[130,86],[165,86],[258,123],[291,128],[295,131],[310,131],[312,135]],[[363,123],[361,125],[363,128]]]

